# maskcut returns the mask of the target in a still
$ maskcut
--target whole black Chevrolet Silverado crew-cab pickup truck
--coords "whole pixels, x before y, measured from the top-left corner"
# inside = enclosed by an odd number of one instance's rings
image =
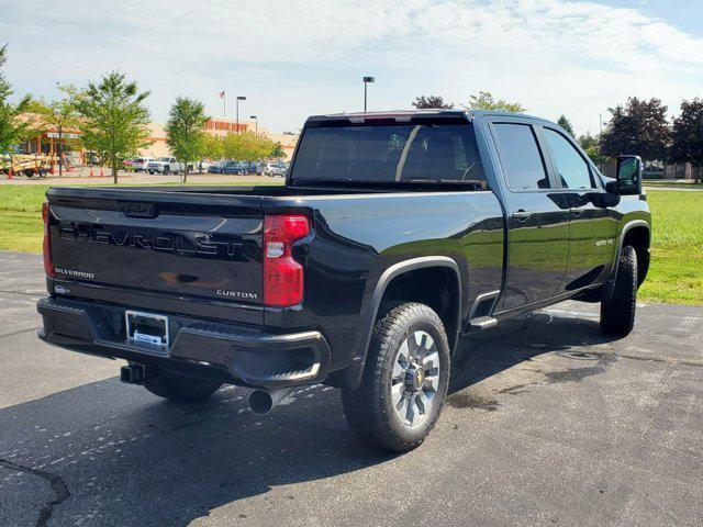
[[[556,124],[310,117],[284,186],[53,188],[40,337],[172,401],[342,389],[354,431],[420,445],[459,338],[566,299],[626,335],[649,265],[641,161],[605,178]]]

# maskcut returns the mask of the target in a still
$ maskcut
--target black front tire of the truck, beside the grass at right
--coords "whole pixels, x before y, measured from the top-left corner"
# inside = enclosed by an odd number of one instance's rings
[[[613,296],[601,302],[601,329],[605,335],[624,337],[635,326],[637,306],[637,253],[623,247]]]

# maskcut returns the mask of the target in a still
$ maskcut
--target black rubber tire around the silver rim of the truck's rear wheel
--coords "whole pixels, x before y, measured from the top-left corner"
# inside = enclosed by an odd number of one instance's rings
[[[397,406],[393,404],[391,392],[399,384],[398,380],[393,381],[393,368],[400,360],[401,346],[420,333],[428,334],[434,341],[432,354],[436,351],[438,356],[438,373],[426,373],[425,380],[429,380],[431,375],[437,379],[436,390],[429,408],[416,414],[421,421],[411,425],[399,416],[398,412],[402,413],[402,408],[397,412],[403,400]],[[423,345],[419,349],[425,351]],[[361,441],[384,450],[406,452],[419,447],[434,428],[442,413],[448,383],[449,344],[439,316],[427,305],[415,302],[384,306],[373,326],[361,383],[356,389],[342,390],[344,414],[353,433]]]

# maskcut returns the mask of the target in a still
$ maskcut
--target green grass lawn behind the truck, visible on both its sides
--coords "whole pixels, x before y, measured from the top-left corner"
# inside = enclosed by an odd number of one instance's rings
[[[47,188],[0,186],[0,249],[42,251]],[[703,305],[703,192],[661,190],[650,192],[648,200],[654,214],[651,266],[639,299]]]

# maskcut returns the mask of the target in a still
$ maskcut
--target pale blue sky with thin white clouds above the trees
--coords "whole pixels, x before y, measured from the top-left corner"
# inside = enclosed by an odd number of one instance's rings
[[[221,115],[217,92],[247,101],[275,132],[306,115],[409,108],[421,94],[479,90],[577,133],[628,96],[678,111],[703,96],[703,2],[581,0],[0,0],[0,43],[18,93],[54,98],[113,69],[152,92],[154,121],[177,96]]]

